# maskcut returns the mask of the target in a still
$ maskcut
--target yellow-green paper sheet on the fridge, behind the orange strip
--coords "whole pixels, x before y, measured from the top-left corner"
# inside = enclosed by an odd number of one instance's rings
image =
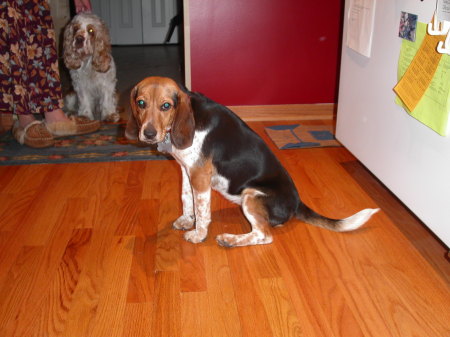
[[[411,68],[410,65],[412,64],[413,58],[417,54],[419,54],[425,36],[428,36],[428,34],[426,34],[426,27],[427,25],[425,23],[419,22],[417,25],[416,41],[411,42],[403,40],[402,42],[397,73],[398,79],[401,79],[400,82],[405,78],[406,72],[408,70],[415,69]],[[439,36],[437,38],[439,39],[438,41],[440,41],[442,39],[445,39],[445,36]],[[435,41],[436,39],[432,40]],[[433,43],[431,45],[428,45],[427,47],[431,49],[429,50],[429,52],[432,55],[436,56],[435,54],[437,54],[437,42],[436,44],[434,44],[434,46]],[[428,71],[433,75],[430,76],[430,74],[428,74],[428,77],[431,77],[431,80],[427,87],[423,82],[419,82],[418,78],[415,78],[417,82],[409,83],[410,87],[402,87],[403,90],[407,88],[407,90],[410,90],[411,92],[418,91],[418,87],[425,87],[425,91],[422,94],[422,97],[419,98],[414,108],[411,109],[408,108],[406,104],[402,104],[402,101],[398,97],[396,102],[400,105],[403,105],[408,113],[411,114],[411,116],[418,119],[428,127],[432,128],[440,135],[445,136],[447,134],[447,125],[450,112],[450,56],[442,54],[437,55],[437,57],[440,58],[440,61],[435,71],[430,70],[430,68],[427,69],[426,67],[423,67],[423,64],[421,67],[419,67],[422,68],[422,71]],[[406,95],[408,94],[411,93],[406,92]],[[417,94],[417,96],[420,95]]]

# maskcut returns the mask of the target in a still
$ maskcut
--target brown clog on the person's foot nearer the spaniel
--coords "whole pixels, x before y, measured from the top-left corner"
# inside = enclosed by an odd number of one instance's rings
[[[100,121],[90,120],[86,117],[71,116],[68,121],[46,123],[48,131],[55,138],[64,136],[84,135],[100,129]]]

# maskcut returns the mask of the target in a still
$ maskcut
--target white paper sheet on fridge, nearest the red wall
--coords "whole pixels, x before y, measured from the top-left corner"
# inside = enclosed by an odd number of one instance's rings
[[[372,50],[375,4],[375,0],[350,0],[347,13],[347,46],[367,57]]]

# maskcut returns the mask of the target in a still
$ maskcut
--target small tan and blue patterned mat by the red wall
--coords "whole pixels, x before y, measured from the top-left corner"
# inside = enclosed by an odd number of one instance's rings
[[[275,125],[265,131],[281,150],[341,146],[331,125]]]

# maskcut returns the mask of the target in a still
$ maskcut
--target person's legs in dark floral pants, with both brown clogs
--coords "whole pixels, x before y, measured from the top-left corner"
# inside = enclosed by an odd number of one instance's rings
[[[14,62],[10,64],[9,94],[10,105],[18,114],[13,128],[17,141],[31,147],[47,147],[54,144],[54,136],[98,130],[98,121],[68,118],[61,110],[58,55],[48,2],[23,0],[19,4],[10,0],[9,5],[9,10],[16,13],[5,38],[12,42],[9,54]],[[43,115],[45,123],[36,121],[31,112]]]

